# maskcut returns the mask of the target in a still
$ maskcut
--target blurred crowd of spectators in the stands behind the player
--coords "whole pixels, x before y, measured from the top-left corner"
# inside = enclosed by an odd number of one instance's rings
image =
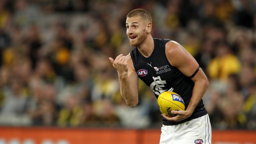
[[[150,12],[152,36],[184,46],[210,85],[214,129],[256,129],[255,0],[0,0],[0,125],[160,127],[139,81],[128,107],[108,60],[133,48],[126,15]]]

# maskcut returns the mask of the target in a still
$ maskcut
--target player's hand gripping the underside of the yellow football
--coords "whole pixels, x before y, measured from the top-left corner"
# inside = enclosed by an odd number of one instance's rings
[[[166,116],[165,114],[161,114],[161,115],[165,120],[169,120],[171,122],[179,122],[191,116],[192,113],[189,111],[182,110],[182,111],[171,111],[171,114],[173,114],[174,116],[169,117],[169,116]]]

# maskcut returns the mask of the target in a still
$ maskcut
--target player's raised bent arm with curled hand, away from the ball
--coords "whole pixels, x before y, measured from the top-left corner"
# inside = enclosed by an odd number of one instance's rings
[[[139,102],[138,76],[132,63],[131,55],[118,55],[116,59],[109,57],[113,67],[117,70],[122,98],[127,105],[135,107]]]

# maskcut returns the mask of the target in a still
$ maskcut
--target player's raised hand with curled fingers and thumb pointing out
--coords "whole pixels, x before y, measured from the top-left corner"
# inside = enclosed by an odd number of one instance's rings
[[[127,73],[128,71],[128,59],[129,54],[123,56],[122,54],[118,55],[115,60],[112,57],[109,57],[110,62],[112,63],[113,67],[117,70],[117,72],[123,74]]]

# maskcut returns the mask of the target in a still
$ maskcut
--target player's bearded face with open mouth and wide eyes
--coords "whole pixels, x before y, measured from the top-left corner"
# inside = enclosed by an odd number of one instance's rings
[[[147,22],[140,16],[126,18],[126,35],[131,46],[139,46],[147,37]]]

